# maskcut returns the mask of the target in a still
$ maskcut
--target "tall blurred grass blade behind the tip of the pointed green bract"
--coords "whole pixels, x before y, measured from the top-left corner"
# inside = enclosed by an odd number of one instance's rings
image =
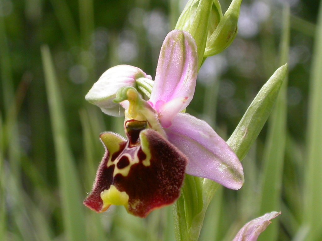
[[[283,10],[283,26],[280,43],[281,62],[288,61],[289,52],[289,6],[285,5]],[[262,176],[262,189],[260,212],[267,213],[279,211],[281,209],[281,188],[283,164],[285,156],[285,142],[287,129],[287,76],[279,91],[275,107],[273,109],[269,128],[268,137],[264,149],[264,169]],[[273,241],[277,240],[279,223],[273,222],[270,227],[263,232],[259,240]]]

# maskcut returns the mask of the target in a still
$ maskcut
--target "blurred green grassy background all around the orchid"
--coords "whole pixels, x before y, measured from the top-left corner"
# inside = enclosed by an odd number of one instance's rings
[[[227,9],[229,1],[220,2]],[[104,152],[99,133],[123,134],[123,120],[103,115],[84,95],[113,65],[131,64],[153,76],[182,2],[0,3],[0,240],[174,240],[171,207],[138,219],[123,207],[96,214],[81,206]],[[246,221],[273,211],[265,202],[282,211],[265,240],[322,239],[318,4],[291,5],[288,86],[243,161],[244,187],[216,192],[200,240],[231,240]],[[204,64],[187,109],[222,136],[231,135],[288,52],[287,46],[278,50],[287,31],[279,3],[242,6],[246,27]]]

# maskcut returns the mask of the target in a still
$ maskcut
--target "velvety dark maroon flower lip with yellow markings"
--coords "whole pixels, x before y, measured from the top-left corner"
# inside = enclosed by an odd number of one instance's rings
[[[188,160],[158,132],[142,130],[136,147],[129,147],[129,141],[111,132],[103,133],[101,140],[106,153],[92,192],[84,201],[87,207],[103,212],[110,205],[124,205],[129,213],[145,218],[152,210],[179,198]],[[119,164],[129,156],[132,158],[124,169]]]

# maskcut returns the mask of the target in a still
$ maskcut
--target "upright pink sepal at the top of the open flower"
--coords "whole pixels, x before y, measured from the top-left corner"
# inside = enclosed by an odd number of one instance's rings
[[[150,97],[152,107],[156,108],[157,101],[167,103],[176,98],[188,97],[181,108],[185,109],[194,95],[197,62],[197,47],[193,37],[185,31],[171,31],[161,47]]]

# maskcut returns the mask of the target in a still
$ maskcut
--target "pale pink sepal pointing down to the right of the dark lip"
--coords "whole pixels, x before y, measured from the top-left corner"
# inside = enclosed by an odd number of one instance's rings
[[[189,159],[187,174],[211,179],[231,189],[244,182],[242,164],[227,143],[205,122],[178,113],[165,128],[170,142]]]

